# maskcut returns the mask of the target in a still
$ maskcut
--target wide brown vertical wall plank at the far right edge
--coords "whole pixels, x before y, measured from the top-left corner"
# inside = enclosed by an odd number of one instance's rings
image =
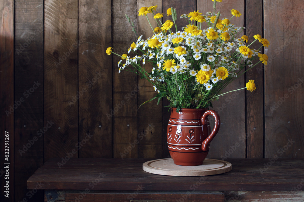
[[[304,157],[302,5],[300,0],[264,1],[264,37],[270,41],[264,48],[265,158]]]

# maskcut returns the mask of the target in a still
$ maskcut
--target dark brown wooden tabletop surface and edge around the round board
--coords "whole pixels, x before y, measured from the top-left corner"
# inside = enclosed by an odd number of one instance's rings
[[[174,177],[142,170],[149,159],[51,159],[28,180],[28,189],[133,191],[291,191],[304,190],[302,159],[229,159],[230,172],[205,177]]]

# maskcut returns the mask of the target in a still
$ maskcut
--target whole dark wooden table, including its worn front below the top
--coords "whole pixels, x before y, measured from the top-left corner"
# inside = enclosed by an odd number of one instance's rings
[[[304,201],[303,160],[229,159],[232,171],[206,177],[150,174],[142,170],[148,160],[51,159],[27,187],[44,189],[50,202]]]

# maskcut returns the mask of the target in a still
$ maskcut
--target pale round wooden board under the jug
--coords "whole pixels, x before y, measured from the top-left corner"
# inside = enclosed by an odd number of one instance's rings
[[[232,165],[227,161],[206,158],[200,166],[179,166],[172,158],[156,159],[143,164],[143,170],[148,173],[170,176],[206,176],[231,171]]]

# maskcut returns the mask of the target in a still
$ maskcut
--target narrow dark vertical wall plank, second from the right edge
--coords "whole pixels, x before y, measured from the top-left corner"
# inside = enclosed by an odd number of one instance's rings
[[[247,45],[255,39],[254,35],[263,34],[263,2],[260,0],[246,1],[246,35],[249,37]],[[250,48],[258,49],[261,43],[255,41]],[[254,60],[254,64],[259,59]],[[256,90],[247,91],[247,158],[263,158],[264,121],[263,121],[263,70],[259,64],[246,73],[246,82],[254,79]]]

